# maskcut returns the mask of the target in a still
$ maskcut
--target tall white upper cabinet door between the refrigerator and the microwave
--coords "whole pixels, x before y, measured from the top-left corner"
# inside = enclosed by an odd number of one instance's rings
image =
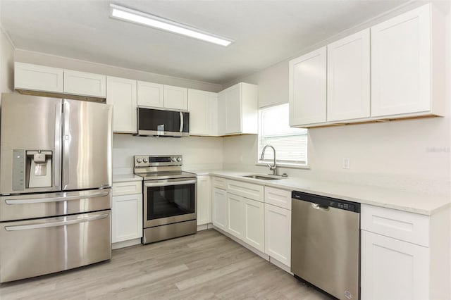
[[[113,105],[113,132],[137,132],[136,80],[106,77],[106,104]]]

